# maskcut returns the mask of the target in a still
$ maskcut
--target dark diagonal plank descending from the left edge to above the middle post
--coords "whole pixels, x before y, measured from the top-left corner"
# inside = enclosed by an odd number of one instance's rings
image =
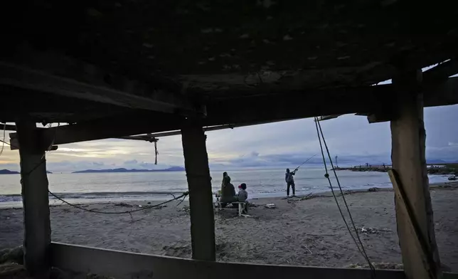
[[[166,113],[196,111],[191,102],[188,102],[183,96],[179,97],[173,93],[154,91],[147,85],[135,83],[133,85],[123,85],[121,87],[122,90],[117,90],[111,88],[110,84],[100,81],[98,84],[95,82],[85,83],[80,80],[50,74],[43,70],[35,70],[27,66],[3,61],[0,61],[0,84],[102,102],[119,107]],[[166,94],[173,95],[173,98],[166,96]]]

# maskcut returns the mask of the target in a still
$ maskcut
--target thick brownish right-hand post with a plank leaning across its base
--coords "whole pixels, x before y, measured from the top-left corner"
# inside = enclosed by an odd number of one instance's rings
[[[425,159],[425,125],[423,102],[419,85],[421,71],[393,79],[398,88],[391,139],[393,169],[398,173],[400,184],[415,216],[422,246],[415,233],[408,209],[399,196],[395,196],[398,236],[407,278],[437,278],[440,276],[440,259],[435,239],[434,221]]]

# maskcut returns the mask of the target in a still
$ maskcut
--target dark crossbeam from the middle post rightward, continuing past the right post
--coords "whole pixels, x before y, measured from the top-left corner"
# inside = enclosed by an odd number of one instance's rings
[[[420,90],[425,96],[425,107],[458,104],[458,78],[426,84]],[[349,113],[371,115],[392,111],[396,95],[393,85],[376,85],[214,101],[207,104],[206,124],[267,122]]]

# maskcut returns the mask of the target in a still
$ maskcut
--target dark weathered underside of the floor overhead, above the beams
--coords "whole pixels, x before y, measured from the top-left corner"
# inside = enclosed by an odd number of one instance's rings
[[[457,55],[456,1],[35,1],[14,28],[167,90],[368,85]],[[17,36],[14,35],[14,36]],[[259,92],[258,92],[259,93]]]

